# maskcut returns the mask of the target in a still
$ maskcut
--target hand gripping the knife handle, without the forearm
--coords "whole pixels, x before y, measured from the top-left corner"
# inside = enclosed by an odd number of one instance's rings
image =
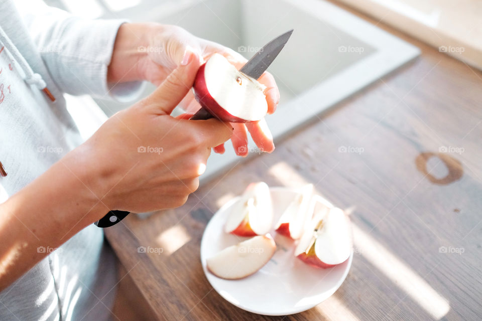
[[[187,51],[154,93],[110,117],[62,159],[109,210],[141,213],[183,205],[199,186],[211,147],[231,137],[229,123],[170,116],[192,87],[199,61]]]

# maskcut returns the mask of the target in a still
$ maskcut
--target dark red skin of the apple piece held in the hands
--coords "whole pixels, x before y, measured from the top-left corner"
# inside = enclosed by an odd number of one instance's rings
[[[204,77],[205,66],[206,66],[206,63],[204,63],[201,67],[199,67],[199,70],[197,71],[197,74],[196,74],[196,78],[194,79],[194,85],[192,86],[194,89],[194,97],[196,98],[197,102],[201,106],[206,108],[214,117],[218,118],[221,121],[243,122],[243,123],[255,121],[255,120],[246,120],[246,119],[233,116],[230,113],[228,113],[224,108],[219,106],[219,104],[216,102],[214,98],[212,98],[211,94],[207,90],[206,79]]]

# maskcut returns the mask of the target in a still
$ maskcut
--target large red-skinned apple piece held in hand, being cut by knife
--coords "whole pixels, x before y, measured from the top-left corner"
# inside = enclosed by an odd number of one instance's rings
[[[194,97],[201,106],[230,122],[261,120],[268,112],[265,89],[217,53],[199,68],[193,85]]]

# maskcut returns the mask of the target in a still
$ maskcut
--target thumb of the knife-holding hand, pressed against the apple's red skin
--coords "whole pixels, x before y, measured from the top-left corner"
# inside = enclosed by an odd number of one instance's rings
[[[181,64],[174,69],[156,90],[143,100],[153,113],[169,115],[186,96],[194,83],[200,60],[196,53],[187,48]]]

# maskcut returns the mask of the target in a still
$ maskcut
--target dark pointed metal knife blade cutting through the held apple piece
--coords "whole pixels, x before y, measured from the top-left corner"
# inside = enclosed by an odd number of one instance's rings
[[[276,37],[264,45],[263,48],[258,50],[258,52],[251,57],[251,59],[248,60],[248,62],[241,69],[239,69],[239,71],[254,79],[259,79],[281,52],[283,47],[288,42],[288,39],[290,39],[292,33],[293,29],[285,32],[281,36]],[[212,117],[213,116],[206,108],[201,107],[190,119],[202,120]]]

